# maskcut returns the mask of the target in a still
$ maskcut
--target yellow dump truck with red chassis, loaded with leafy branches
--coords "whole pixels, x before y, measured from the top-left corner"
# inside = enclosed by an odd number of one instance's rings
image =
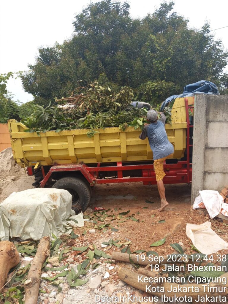
[[[191,181],[189,137],[193,124],[189,122],[188,111],[193,104],[194,97],[176,98],[172,123],[165,125],[174,146],[174,159],[167,160],[164,166],[164,183]],[[67,189],[77,209],[85,210],[91,186],[98,183],[156,184],[153,153],[148,140],[139,139],[139,129],[99,129],[99,133],[89,138],[85,129],[38,135],[24,132],[28,128],[15,119],[10,119],[8,125],[13,157],[20,166],[27,167],[29,175],[35,175],[33,185]]]

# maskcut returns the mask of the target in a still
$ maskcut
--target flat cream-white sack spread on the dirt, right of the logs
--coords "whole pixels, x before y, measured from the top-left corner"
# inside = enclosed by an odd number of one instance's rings
[[[186,225],[186,235],[192,241],[192,244],[203,254],[216,253],[228,247],[228,243],[211,229],[210,222],[201,225],[188,223]]]

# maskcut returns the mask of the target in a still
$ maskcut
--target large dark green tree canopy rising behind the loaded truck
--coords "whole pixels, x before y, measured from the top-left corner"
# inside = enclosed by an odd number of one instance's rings
[[[225,89],[222,71],[228,54],[221,41],[208,24],[189,29],[188,20],[173,12],[173,6],[162,3],[153,14],[133,19],[126,2],[89,4],[75,16],[70,40],[39,49],[36,63],[22,75],[25,91],[45,105],[98,80],[114,90],[138,88],[137,100],[156,104],[202,79]]]

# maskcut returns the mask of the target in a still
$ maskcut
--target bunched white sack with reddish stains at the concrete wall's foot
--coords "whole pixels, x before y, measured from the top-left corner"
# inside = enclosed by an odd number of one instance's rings
[[[223,203],[224,199],[218,191],[202,190],[195,199],[193,209],[206,208],[210,218],[213,219],[220,213]]]

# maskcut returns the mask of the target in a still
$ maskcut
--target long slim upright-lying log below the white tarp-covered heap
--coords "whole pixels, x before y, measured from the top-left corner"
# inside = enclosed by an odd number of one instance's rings
[[[25,281],[25,304],[37,304],[40,287],[40,274],[44,261],[50,254],[50,238],[42,237],[38,245],[36,255],[33,259]]]

